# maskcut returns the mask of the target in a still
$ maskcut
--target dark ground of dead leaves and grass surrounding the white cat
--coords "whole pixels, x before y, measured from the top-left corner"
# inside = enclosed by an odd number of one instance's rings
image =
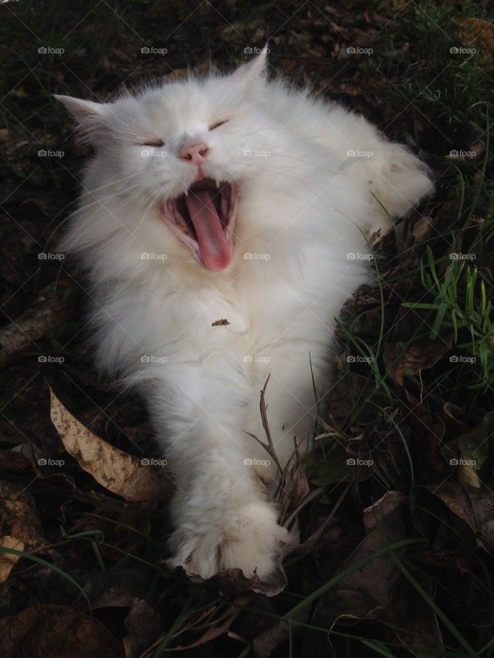
[[[161,3],[137,5],[139,15],[131,11],[127,18],[138,31],[169,34],[170,17]],[[412,145],[439,179],[434,203],[370,237],[376,276],[342,309],[335,386],[314,429],[313,451],[301,463],[294,446],[293,460],[280,475],[276,499],[291,543],[280,555],[284,575],[274,589],[238,569],[194,583],[180,570],[166,569],[163,528],[172,484],[166,467],[143,463],[155,455],[143,404],[95,376],[80,319],[84,292],[59,263],[37,257],[56,251],[59,214],[66,216],[74,201],[85,147],[69,137],[63,163],[37,167],[37,145],[33,149],[30,139],[57,147],[64,137],[52,109],[44,109],[39,84],[49,88],[49,75],[20,74],[18,60],[7,55],[7,91],[14,89],[9,107],[32,135],[14,126],[0,130],[6,198],[0,281],[7,314],[0,328],[0,645],[6,657],[151,658],[178,651],[197,658],[276,657],[291,655],[289,647],[293,655],[343,655],[349,646],[355,656],[381,649],[383,655],[422,657],[431,651],[444,655],[445,645],[458,640],[449,620],[467,645],[476,641],[474,628],[487,629],[478,648],[489,641],[485,573],[494,572],[493,405],[489,386],[475,387],[485,384],[492,350],[475,304],[445,302],[453,299],[447,293],[466,268],[481,273],[492,298],[491,234],[482,232],[491,201],[480,188],[483,162],[488,178],[491,160],[482,122],[437,116],[431,99],[417,101],[420,111],[414,103],[397,116],[389,77],[364,57],[347,54],[348,45],[366,47],[383,31],[393,57],[406,58],[414,43],[401,41],[400,17],[393,20],[403,12],[406,25],[404,5],[393,3],[388,10],[337,3],[323,11],[268,2],[249,13],[237,3],[222,3],[222,21],[205,3],[195,8],[200,21],[192,32],[185,3],[176,16],[182,28],[170,38],[176,53],[187,52],[173,61],[179,76],[209,55],[234,64],[245,42],[270,38],[277,70],[313,83],[316,93]],[[87,13],[82,3],[72,9],[74,18]],[[16,11],[12,6],[12,16]],[[49,11],[55,22],[66,20],[62,6]],[[114,47],[95,53],[90,39],[112,30],[105,11],[102,5],[87,18],[82,43],[67,55],[69,68],[62,61],[51,64],[62,85],[72,91],[80,85],[80,95],[89,86],[106,97],[125,78],[137,82],[137,64],[148,76],[163,76],[162,61],[143,61],[140,41],[132,51],[135,36],[120,24]],[[477,44],[479,64],[489,70],[491,25],[463,16],[455,19],[455,30],[458,43]],[[226,51],[207,47],[215,42],[212,34],[228,43]],[[159,38],[147,41],[154,45]],[[429,64],[419,59],[395,84],[405,89]],[[458,155],[462,151],[470,155]],[[456,184],[467,177],[471,188]],[[452,253],[476,259],[452,264]],[[440,284],[453,268],[457,279],[450,276],[443,290]],[[468,286],[475,303],[482,303],[482,286],[472,276]],[[475,345],[481,345],[473,351],[472,330],[480,336]],[[51,361],[39,360],[47,355]],[[357,359],[364,355],[373,361]],[[478,361],[469,362],[472,357]],[[276,457],[262,396],[260,413],[264,445]],[[408,540],[414,543],[400,544],[394,557],[387,550]],[[383,552],[365,563],[376,551]],[[44,563],[30,561],[30,555]],[[354,568],[357,563],[362,566]]]

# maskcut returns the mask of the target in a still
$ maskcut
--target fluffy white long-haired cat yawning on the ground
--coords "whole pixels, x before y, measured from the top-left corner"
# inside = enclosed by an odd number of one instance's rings
[[[176,484],[172,563],[261,582],[287,531],[276,466],[249,436],[266,438],[260,390],[270,374],[283,465],[314,426],[312,374],[331,394],[334,318],[370,274],[364,234],[387,226],[371,191],[393,216],[432,191],[406,147],[265,68],[58,97],[96,147],[64,249],[89,272],[97,363],[149,403]]]

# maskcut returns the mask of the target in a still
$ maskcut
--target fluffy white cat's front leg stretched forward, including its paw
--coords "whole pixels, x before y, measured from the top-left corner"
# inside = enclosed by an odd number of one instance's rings
[[[167,428],[164,453],[177,486],[173,565],[209,578],[230,567],[269,581],[287,531],[256,477],[243,423],[254,395],[231,355],[169,368],[153,382],[151,413]]]

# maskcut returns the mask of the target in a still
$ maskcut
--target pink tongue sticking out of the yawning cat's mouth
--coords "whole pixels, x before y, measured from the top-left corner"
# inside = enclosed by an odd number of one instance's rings
[[[219,191],[218,191],[219,194]],[[224,270],[232,260],[232,247],[226,239],[209,190],[195,190],[185,197],[197,234],[201,258],[210,270]]]

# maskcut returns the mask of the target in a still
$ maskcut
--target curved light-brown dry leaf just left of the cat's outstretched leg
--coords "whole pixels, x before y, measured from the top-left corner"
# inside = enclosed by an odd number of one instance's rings
[[[51,392],[51,420],[70,455],[101,486],[128,501],[162,499],[166,483],[138,457],[129,455],[88,430]]]

